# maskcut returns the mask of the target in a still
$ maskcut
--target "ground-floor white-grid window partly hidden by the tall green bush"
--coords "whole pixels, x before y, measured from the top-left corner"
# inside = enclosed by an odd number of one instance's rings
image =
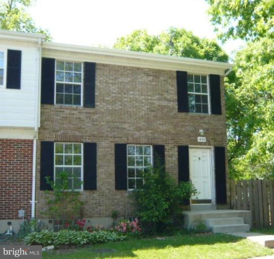
[[[152,165],[151,145],[128,145],[128,190],[140,188],[144,181],[144,171]]]

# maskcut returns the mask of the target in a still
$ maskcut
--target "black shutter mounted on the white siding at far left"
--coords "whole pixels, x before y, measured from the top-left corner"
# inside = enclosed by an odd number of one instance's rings
[[[7,62],[7,88],[8,89],[21,88],[21,59],[22,59],[21,51],[8,50],[8,62]]]

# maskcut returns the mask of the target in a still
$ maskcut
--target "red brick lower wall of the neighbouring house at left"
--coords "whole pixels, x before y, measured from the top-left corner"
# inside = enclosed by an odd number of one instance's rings
[[[0,219],[31,217],[33,140],[0,139]]]

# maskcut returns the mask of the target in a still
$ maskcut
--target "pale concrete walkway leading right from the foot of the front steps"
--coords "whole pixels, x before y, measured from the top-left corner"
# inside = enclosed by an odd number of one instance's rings
[[[265,235],[261,233],[255,233],[255,232],[236,232],[236,233],[226,233],[233,236],[243,237],[247,238],[250,241],[256,242],[264,247],[274,248],[274,235]],[[268,257],[263,257],[268,258]],[[269,258],[274,258],[269,257]]]

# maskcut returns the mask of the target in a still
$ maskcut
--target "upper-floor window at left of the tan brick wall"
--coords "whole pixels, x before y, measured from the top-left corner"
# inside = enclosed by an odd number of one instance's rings
[[[81,62],[56,61],[56,104],[82,105]]]

